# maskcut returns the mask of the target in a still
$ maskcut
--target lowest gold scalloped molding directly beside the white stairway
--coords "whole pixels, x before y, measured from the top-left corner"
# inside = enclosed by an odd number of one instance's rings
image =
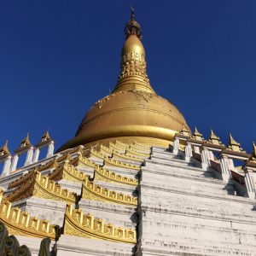
[[[64,219],[64,235],[134,244],[137,242],[136,230],[105,224],[101,218],[94,218],[90,213],[84,214],[82,210],[69,205]]]

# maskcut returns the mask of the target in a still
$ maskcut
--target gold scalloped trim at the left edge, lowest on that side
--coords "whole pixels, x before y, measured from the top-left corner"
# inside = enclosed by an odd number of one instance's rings
[[[3,191],[0,191],[0,220],[9,233],[20,236],[49,237],[55,239],[55,225],[48,220],[31,217],[30,213],[12,207],[9,201],[3,201]]]

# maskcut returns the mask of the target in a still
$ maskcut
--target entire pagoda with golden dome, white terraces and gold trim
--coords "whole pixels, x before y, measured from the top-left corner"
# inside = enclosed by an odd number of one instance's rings
[[[0,148],[0,255],[256,255],[255,144],[192,133],[155,93],[134,10],[120,67],[56,152],[49,131]]]

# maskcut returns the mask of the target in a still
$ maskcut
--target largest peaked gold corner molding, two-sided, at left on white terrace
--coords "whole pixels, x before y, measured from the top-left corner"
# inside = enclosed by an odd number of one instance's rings
[[[75,193],[62,189],[59,184],[49,180],[49,177],[40,172],[34,172],[32,178],[29,178],[26,183],[10,193],[4,200],[14,202],[31,196],[69,203],[76,201]]]

